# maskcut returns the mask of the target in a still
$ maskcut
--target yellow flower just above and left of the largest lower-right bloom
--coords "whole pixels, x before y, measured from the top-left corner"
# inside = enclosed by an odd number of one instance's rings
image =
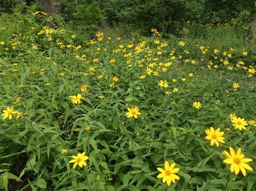
[[[216,146],[219,146],[219,142],[220,143],[225,143],[224,142],[224,137],[222,137],[224,135],[223,131],[220,131],[220,128],[218,128],[216,131],[213,129],[213,127],[211,126],[210,129],[205,130],[206,133],[206,139],[211,140],[211,146],[214,145],[214,143],[216,144]]]

